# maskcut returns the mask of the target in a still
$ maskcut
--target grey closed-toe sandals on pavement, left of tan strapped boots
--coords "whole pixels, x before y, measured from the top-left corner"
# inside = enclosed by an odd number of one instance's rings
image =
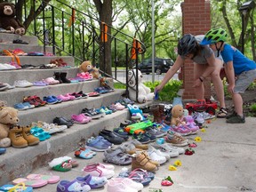
[[[104,152],[105,163],[127,165],[132,164],[132,156],[125,153],[123,148],[112,149],[109,148]]]

